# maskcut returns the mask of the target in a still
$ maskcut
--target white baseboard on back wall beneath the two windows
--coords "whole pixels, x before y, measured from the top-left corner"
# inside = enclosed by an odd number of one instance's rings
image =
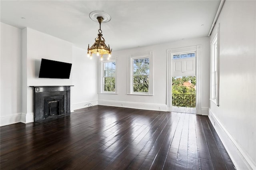
[[[153,111],[167,111],[167,105],[155,104],[155,103],[136,103],[136,102],[125,102],[125,101],[99,100],[98,105],[126,107],[126,108],[132,108],[132,109],[143,109],[143,110],[153,110]]]

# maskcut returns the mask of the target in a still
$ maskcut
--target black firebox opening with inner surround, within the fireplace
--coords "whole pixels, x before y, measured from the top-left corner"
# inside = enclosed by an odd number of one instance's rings
[[[64,114],[64,96],[44,97],[44,119]]]

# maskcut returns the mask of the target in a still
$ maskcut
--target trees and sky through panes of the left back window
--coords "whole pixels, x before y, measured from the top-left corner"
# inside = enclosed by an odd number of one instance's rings
[[[116,91],[116,63],[115,62],[104,63],[103,88],[104,88],[104,91],[110,91],[110,92]]]

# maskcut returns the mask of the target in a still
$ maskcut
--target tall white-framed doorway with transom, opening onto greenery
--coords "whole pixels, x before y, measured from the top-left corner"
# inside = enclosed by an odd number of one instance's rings
[[[168,111],[201,115],[201,45],[167,50]]]

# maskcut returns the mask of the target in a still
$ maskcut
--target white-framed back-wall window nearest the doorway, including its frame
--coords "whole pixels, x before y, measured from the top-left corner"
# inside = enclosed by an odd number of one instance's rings
[[[129,57],[130,83],[128,94],[152,95],[152,55]]]

